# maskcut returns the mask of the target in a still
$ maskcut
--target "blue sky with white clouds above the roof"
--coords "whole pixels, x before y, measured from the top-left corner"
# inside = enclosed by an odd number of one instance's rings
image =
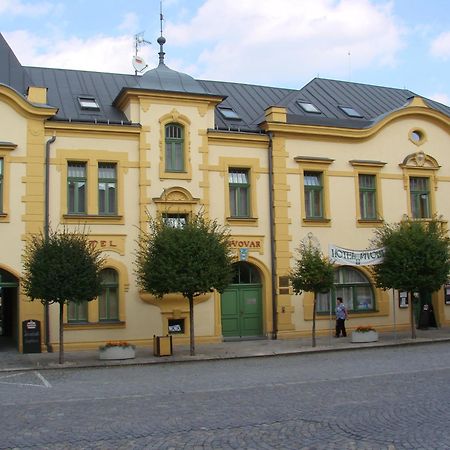
[[[163,0],[165,63],[197,79],[301,88],[315,77],[450,105],[450,0]],[[26,66],[134,73],[158,64],[160,0],[0,0]]]

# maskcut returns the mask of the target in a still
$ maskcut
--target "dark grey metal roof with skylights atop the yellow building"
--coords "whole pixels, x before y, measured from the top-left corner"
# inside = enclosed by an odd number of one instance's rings
[[[288,122],[319,126],[366,128],[386,114],[405,106],[415,96],[407,89],[315,78],[301,89],[257,86],[224,81],[195,80],[161,63],[143,76],[68,69],[23,67],[0,33],[0,83],[22,95],[30,85],[48,88],[50,106],[58,108],[52,120],[129,123],[114,105],[123,89],[149,89],[164,92],[219,96],[224,100],[215,115],[215,128],[260,132],[264,110],[270,106],[287,109]],[[99,110],[80,107],[79,97],[93,97]],[[308,113],[299,101],[310,102],[320,113]],[[424,101],[450,117],[450,107]],[[351,107],[361,117],[349,117],[341,107]],[[220,108],[231,108],[238,118],[226,118]]]

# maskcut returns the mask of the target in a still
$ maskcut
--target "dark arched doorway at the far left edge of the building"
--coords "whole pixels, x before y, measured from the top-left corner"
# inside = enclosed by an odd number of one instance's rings
[[[0,269],[0,346],[18,341],[18,288],[19,280]]]

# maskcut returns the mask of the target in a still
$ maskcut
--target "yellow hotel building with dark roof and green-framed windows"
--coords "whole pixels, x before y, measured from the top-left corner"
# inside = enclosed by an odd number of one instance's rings
[[[194,80],[165,65],[162,44],[143,76],[27,68],[0,44],[15,69],[0,77],[1,334],[19,351],[27,320],[41,323],[44,351],[58,343],[57,306],[46,314],[20,289],[25,242],[46,223],[85,227],[106,260],[102,296],[66,308],[68,349],[150,347],[166,334],[187,343],[187,300],[140,292],[134,260],[149,215],[178,223],[200,210],[230,228],[236,274],[222,295],[196,299],[199,342],[309,335],[312,294],[288,281],[305,239],[340,256],[319,333],[334,328],[337,295],[350,328],[409,326],[402,294],[376,289],[369,268],[345,257],[383,223],[446,223],[450,108],[333,80],[298,91]],[[445,294],[421,300],[437,326],[450,323]]]

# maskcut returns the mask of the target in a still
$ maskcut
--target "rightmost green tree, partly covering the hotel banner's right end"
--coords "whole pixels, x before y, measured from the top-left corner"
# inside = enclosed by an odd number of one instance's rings
[[[442,222],[405,220],[375,231],[372,246],[384,247],[384,259],[373,266],[377,287],[408,292],[411,337],[416,337],[414,292],[438,291],[448,280],[450,246]]]

